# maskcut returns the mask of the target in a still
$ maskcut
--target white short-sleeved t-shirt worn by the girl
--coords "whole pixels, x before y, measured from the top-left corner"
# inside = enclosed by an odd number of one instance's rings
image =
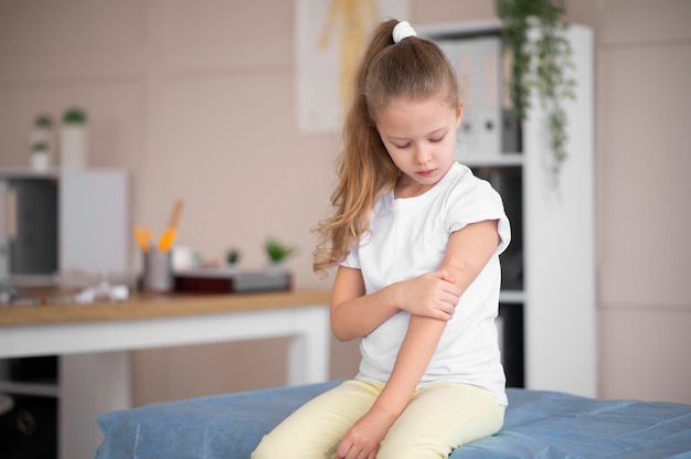
[[[470,169],[454,163],[424,194],[381,196],[372,211],[369,236],[352,248],[342,266],[362,271],[366,293],[437,269],[450,234],[470,223],[498,220],[501,238],[495,255],[460,297],[418,387],[460,382],[488,391],[507,405],[495,318],[499,307],[499,254],[511,239],[499,194]],[[410,313],[398,311],[360,340],[359,380],[385,383],[407,331]]]

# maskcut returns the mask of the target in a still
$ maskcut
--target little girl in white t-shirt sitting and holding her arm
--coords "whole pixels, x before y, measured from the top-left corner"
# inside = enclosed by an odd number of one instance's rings
[[[360,371],[265,436],[255,459],[446,458],[503,424],[495,318],[510,230],[499,195],[454,161],[456,73],[391,20],[353,84],[315,269],[338,266],[331,328],[360,340]]]

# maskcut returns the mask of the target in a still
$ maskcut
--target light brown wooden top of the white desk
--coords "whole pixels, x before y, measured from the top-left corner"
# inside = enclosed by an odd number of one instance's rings
[[[41,323],[152,319],[328,305],[328,290],[233,295],[139,295],[124,302],[0,306],[0,328]]]

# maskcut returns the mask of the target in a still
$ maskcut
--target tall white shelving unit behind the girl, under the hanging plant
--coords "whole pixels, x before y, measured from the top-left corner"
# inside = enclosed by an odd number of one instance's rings
[[[418,33],[439,42],[458,66],[463,58],[451,55],[455,42],[500,36],[500,24],[443,24]],[[514,242],[522,244],[522,288],[502,290],[500,302],[504,308],[522,306],[524,386],[596,396],[593,33],[572,25],[567,39],[576,64],[576,97],[564,102],[568,158],[559,189],[545,167],[545,115],[536,100],[522,125],[521,152],[468,152],[461,147],[457,160],[474,169],[520,172],[522,241]],[[467,50],[467,43],[463,46]],[[490,66],[499,74],[485,77],[501,81],[501,67]],[[476,107],[466,106],[466,114],[472,116]]]

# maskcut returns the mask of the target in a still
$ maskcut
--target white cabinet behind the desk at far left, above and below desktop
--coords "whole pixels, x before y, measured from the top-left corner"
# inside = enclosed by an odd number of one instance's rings
[[[42,286],[47,285],[55,270],[81,270],[96,278],[102,271],[118,278],[127,276],[131,239],[128,182],[123,170],[49,173],[0,170],[0,250],[4,250],[0,259],[0,281]],[[44,217],[46,212],[54,215],[36,225],[36,218]],[[30,232],[31,237],[21,234],[23,230]],[[41,247],[49,249],[36,249],[35,244],[40,242],[36,238],[50,239],[41,242],[44,243]],[[19,247],[21,244],[26,247]],[[51,349],[50,345],[43,348]],[[56,401],[52,423],[57,429],[59,458],[93,457],[100,435],[92,421],[94,407],[97,410],[98,406],[110,406],[108,404],[116,399],[127,403],[131,399],[131,388],[116,386],[121,380],[109,377],[129,374],[129,362],[124,355],[62,355],[56,357],[57,371],[47,378],[18,377],[17,370],[12,369],[20,367],[21,362],[0,359],[0,393],[15,398]],[[39,361],[42,363],[45,361]],[[93,369],[99,370],[94,372]],[[33,416],[31,408],[24,409],[23,416]],[[50,415],[42,413],[41,416],[34,420],[51,423]],[[28,447],[34,450],[33,445]]]

